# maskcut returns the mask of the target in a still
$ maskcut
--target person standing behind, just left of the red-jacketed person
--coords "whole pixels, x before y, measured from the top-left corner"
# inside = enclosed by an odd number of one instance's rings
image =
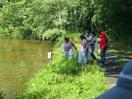
[[[96,60],[97,58],[94,55],[96,38],[92,33],[89,33],[89,32],[86,32],[85,37],[89,43],[89,54],[94,60]]]

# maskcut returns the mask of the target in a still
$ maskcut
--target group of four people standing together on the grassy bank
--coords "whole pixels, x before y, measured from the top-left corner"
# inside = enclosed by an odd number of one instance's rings
[[[68,37],[64,38],[63,51],[65,57],[77,57],[79,56],[78,62],[87,64],[88,56],[93,60],[97,60],[94,55],[95,44],[96,44],[96,35],[90,32],[86,32],[84,35],[80,36],[80,52],[74,53],[74,50],[77,51],[77,47],[72,43]],[[101,32],[100,37],[100,64],[105,64],[105,53],[107,50],[107,39],[105,32]]]

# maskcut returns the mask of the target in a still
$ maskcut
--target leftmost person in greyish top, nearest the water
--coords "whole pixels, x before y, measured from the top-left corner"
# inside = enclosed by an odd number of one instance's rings
[[[76,46],[69,41],[68,37],[64,38],[63,51],[65,57],[74,56],[73,50],[77,50]]]

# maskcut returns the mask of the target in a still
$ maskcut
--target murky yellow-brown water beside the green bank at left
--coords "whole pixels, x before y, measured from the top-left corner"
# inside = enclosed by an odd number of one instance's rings
[[[48,42],[0,39],[0,89],[8,94],[6,98],[22,91],[25,82],[47,63],[51,48]]]

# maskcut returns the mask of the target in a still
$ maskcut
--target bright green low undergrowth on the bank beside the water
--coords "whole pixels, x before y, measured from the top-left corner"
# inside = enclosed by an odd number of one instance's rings
[[[97,63],[78,64],[77,57],[65,58],[59,52],[17,99],[94,99],[105,91],[104,73]]]

